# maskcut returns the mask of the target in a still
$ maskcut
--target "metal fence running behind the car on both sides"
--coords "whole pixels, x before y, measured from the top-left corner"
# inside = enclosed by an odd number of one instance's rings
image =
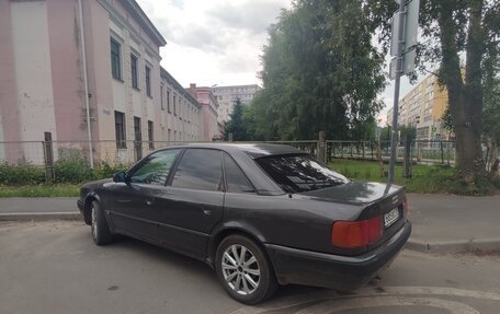
[[[266,141],[296,147],[316,158],[329,162],[333,159],[377,160],[387,161],[390,155],[389,141],[343,141],[343,140],[304,140],[304,141]],[[148,153],[164,147],[184,144],[179,141],[93,141],[93,160],[96,164],[129,165]],[[402,161],[404,146],[399,143],[397,161]],[[453,141],[412,141],[410,158],[420,164],[455,164],[455,144]],[[30,163],[46,166],[47,163],[61,160],[80,159],[89,161],[88,141],[22,141],[0,142],[0,162],[10,164]]]

